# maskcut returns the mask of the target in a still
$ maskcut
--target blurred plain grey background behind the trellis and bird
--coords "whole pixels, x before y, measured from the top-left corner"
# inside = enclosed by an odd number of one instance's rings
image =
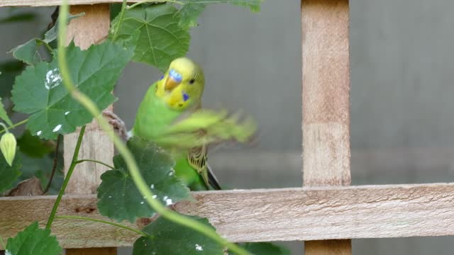
[[[454,2],[350,0],[352,184],[454,180]],[[40,36],[52,8],[31,22],[0,22],[0,62]],[[299,1],[265,0],[260,13],[209,6],[192,29],[189,56],[204,67],[207,108],[242,109],[260,127],[255,147],[229,145],[209,157],[231,188],[301,186],[301,14]],[[20,69],[19,69],[20,70]],[[131,128],[157,69],[130,64],[115,111]],[[0,84],[6,88],[5,78]],[[21,119],[20,116],[16,117]],[[355,239],[353,254],[453,254],[453,237]],[[283,243],[302,254],[302,242]],[[130,254],[128,249],[121,249]]]

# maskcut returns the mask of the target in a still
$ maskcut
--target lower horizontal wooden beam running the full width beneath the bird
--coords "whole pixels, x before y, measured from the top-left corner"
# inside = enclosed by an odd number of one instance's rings
[[[454,183],[211,191],[194,198],[177,210],[208,217],[232,242],[454,234]],[[35,220],[43,226],[54,201],[55,196],[0,198],[0,236],[12,237]],[[57,215],[104,219],[94,195],[65,196]],[[65,248],[131,246],[138,237],[79,220],[55,220],[52,233]]]

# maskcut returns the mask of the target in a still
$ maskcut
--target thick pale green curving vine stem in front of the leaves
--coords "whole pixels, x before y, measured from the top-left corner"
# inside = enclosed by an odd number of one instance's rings
[[[122,6],[122,13],[124,16],[124,9],[126,8],[126,0],[123,0],[123,6]],[[135,186],[137,186],[138,190],[142,194],[142,196],[145,196],[145,200],[147,203],[157,212],[159,213],[162,217],[167,218],[167,220],[170,220],[172,222],[175,222],[179,225],[183,225],[185,227],[189,227],[191,229],[194,229],[196,232],[201,232],[202,234],[205,234],[206,237],[209,237],[210,239],[213,239],[215,242],[218,242],[218,244],[221,244],[222,246],[226,246],[228,249],[231,251],[235,252],[236,254],[240,255],[247,255],[249,254],[248,251],[245,249],[241,248],[240,246],[233,244],[231,242],[228,242],[227,239],[224,239],[223,237],[219,236],[216,231],[211,229],[211,227],[208,227],[201,222],[197,222],[196,220],[192,220],[189,217],[186,217],[184,215],[179,215],[177,212],[174,212],[172,210],[169,210],[165,205],[162,205],[159,201],[153,199],[153,193],[150,191],[150,188],[148,188],[147,183],[145,183],[142,175],[140,174],[140,171],[138,170],[137,163],[135,162],[135,159],[133,157],[133,154],[129,151],[129,149],[126,147],[126,145],[123,143],[120,137],[115,134],[114,129],[109,125],[107,120],[105,120],[102,115],[101,111],[99,111],[99,108],[96,106],[96,104],[90,99],[88,96],[85,94],[81,93],[80,91],[77,90],[77,87],[74,86],[74,83],[72,82],[71,76],[70,76],[70,69],[67,65],[66,62],[66,50],[65,50],[65,35],[66,35],[66,19],[67,19],[67,13],[68,13],[68,4],[67,0],[62,1],[62,6],[60,6],[60,18],[58,19],[58,47],[57,47],[57,60],[58,60],[58,67],[60,68],[60,75],[62,76],[62,81],[63,85],[66,87],[66,89],[70,92],[72,97],[76,100],[79,101],[79,103],[84,106],[84,108],[91,113],[94,118],[98,121],[99,126],[106,132],[106,134],[111,138],[111,140],[114,142],[115,147],[118,149],[118,152],[121,154],[123,157],[124,161],[126,162],[126,165],[128,166],[129,172],[131,174],[131,177],[133,178],[133,181],[135,183]]]

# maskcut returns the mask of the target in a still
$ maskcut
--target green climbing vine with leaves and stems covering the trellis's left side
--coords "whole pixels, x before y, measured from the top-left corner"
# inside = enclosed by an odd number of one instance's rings
[[[72,16],[67,13],[66,5],[60,6],[57,21],[52,22],[42,37],[13,48],[11,54],[16,60],[0,64],[0,72],[4,72],[3,77],[0,74],[3,83],[0,96],[9,98],[7,107],[0,101],[0,120],[3,121],[0,133],[4,133],[0,140],[3,154],[0,157],[0,193],[8,195],[18,181],[31,176],[38,176],[42,185],[47,184],[43,193],[59,191],[45,229],[34,222],[6,243],[0,237],[6,254],[61,254],[62,248],[51,233],[56,218],[91,220],[136,232],[140,238],[133,245],[135,255],[289,253],[269,243],[231,244],[216,234],[206,218],[168,210],[168,205],[192,200],[189,188],[173,174],[175,162],[170,154],[153,142],[139,138],[128,140],[125,147],[100,117],[99,109],[116,101],[111,91],[128,62],[143,62],[164,72],[172,60],[186,55],[189,30],[196,26],[206,5],[228,3],[259,11],[261,0],[161,2],[142,1],[128,6],[123,1],[119,11],[112,8],[117,11],[112,15],[109,36],[87,50],[80,50],[74,43],[63,46],[66,24],[84,13]],[[52,15],[54,18],[56,13]],[[0,23],[33,19],[33,13],[25,14],[12,15]],[[13,123],[9,115],[14,112],[25,113],[28,118]],[[120,152],[114,157],[113,166],[99,162],[111,168],[101,176],[102,183],[97,190],[99,212],[111,221],[56,215],[72,171],[82,162],[78,154],[84,125],[91,123],[93,118],[99,120],[101,127],[111,135]],[[26,131],[16,141],[10,131],[23,124]],[[76,128],[80,128],[79,138],[67,176],[63,180],[61,171],[57,171],[60,174],[54,181],[45,178],[50,171],[42,169],[61,168],[60,164],[49,164],[50,154],[55,162],[61,162],[58,160],[61,159],[59,137]],[[48,163],[39,166],[40,169],[27,168],[25,171],[27,162],[37,158],[45,158]],[[54,175],[53,171],[50,175]],[[143,229],[121,225],[124,220],[135,222],[139,217],[156,217],[157,213],[160,217]]]

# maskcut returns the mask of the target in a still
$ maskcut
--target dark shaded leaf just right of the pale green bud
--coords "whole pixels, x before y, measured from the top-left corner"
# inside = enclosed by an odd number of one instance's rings
[[[42,158],[52,152],[55,147],[50,142],[40,140],[37,136],[31,135],[29,130],[25,130],[21,137],[17,139],[19,150],[32,158]]]

